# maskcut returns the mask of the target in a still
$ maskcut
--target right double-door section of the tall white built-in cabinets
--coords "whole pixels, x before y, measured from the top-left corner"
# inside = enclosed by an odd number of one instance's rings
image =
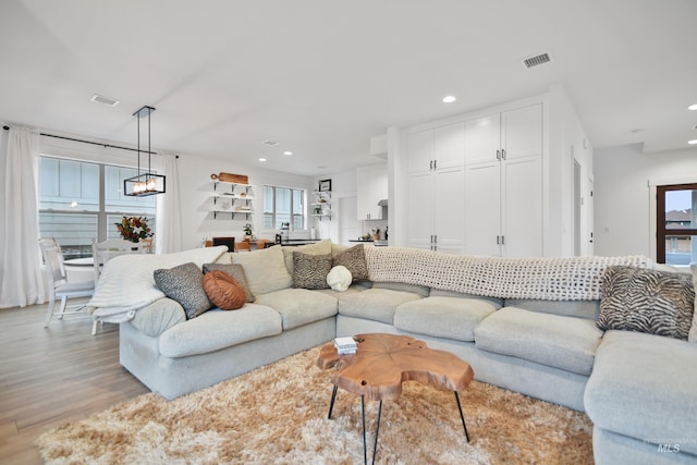
[[[468,121],[465,127],[466,253],[541,256],[541,103]]]

